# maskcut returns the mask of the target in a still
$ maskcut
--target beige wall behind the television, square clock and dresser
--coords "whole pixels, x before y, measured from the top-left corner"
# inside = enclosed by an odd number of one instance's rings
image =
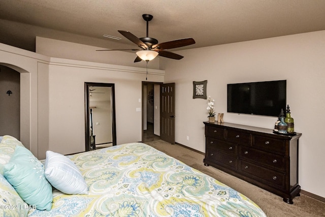
[[[176,83],[176,142],[205,151],[203,121],[207,101],[192,99],[192,81],[208,80],[207,94],[225,122],[272,129],[276,117],[226,112],[226,84],[287,80],[287,104],[302,133],[299,183],[303,190],[325,197],[322,169],[325,108],[325,31],[179,51],[179,61],[160,60],[165,82]],[[189,140],[186,140],[186,136]]]

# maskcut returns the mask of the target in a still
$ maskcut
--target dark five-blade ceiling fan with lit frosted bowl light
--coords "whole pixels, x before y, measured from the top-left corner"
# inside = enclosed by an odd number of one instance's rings
[[[150,61],[154,59],[157,55],[171,58],[171,59],[181,59],[183,56],[167,51],[167,49],[178,48],[183,46],[188,46],[191,44],[195,44],[194,39],[192,38],[185,38],[185,39],[178,39],[175,41],[169,41],[164,43],[158,43],[158,41],[154,38],[150,38],[148,35],[149,29],[149,21],[152,20],[153,16],[150,14],[143,14],[143,19],[147,22],[147,36],[144,38],[138,38],[132,33],[124,30],[118,30],[120,34],[122,34],[125,38],[132,41],[140,49],[119,49],[119,50],[133,50],[137,51],[137,58],[134,60],[135,63],[145,60]],[[113,51],[113,50],[97,50],[97,51]]]

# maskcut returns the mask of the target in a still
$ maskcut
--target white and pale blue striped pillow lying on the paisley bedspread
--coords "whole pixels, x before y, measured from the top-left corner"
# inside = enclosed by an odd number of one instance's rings
[[[46,151],[45,177],[64,194],[88,194],[86,181],[77,166],[60,153]]]

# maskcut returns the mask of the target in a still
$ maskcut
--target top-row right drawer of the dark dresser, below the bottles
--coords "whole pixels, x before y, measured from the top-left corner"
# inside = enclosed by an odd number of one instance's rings
[[[285,154],[285,140],[273,139],[264,136],[254,136],[253,146],[267,151]]]

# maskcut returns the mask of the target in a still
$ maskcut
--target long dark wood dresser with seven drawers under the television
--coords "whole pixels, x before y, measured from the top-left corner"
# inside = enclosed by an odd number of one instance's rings
[[[205,124],[204,165],[248,181],[293,204],[300,195],[298,144],[294,136],[274,134],[265,128],[234,123]]]

